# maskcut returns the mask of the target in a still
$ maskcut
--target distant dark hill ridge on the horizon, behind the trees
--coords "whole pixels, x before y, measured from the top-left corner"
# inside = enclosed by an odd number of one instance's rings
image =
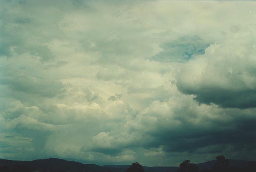
[[[230,160],[230,166],[235,168],[242,168],[247,166],[251,161],[243,160]],[[211,169],[212,166],[216,163],[216,160],[207,161],[203,163],[196,164],[200,170],[202,169]],[[82,164],[75,161],[67,161],[58,158],[49,158],[42,160],[33,160],[33,161],[15,161],[15,160],[5,160],[0,159],[0,166],[7,166],[12,169],[15,165],[24,165],[29,166],[33,171],[95,171],[95,172],[125,172],[130,165],[95,165],[95,164]],[[145,172],[177,172],[179,169],[178,166],[154,166],[148,167],[143,166]]]

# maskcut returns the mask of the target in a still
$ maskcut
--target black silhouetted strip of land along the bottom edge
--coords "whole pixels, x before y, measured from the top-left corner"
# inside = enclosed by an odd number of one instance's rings
[[[184,161],[185,162],[185,161]],[[184,163],[183,162],[183,163]],[[184,168],[177,166],[143,166],[144,172],[256,172],[256,161],[229,160],[228,168],[213,169],[217,160],[207,161],[196,166],[194,169],[189,164],[183,164]],[[188,166],[186,166],[188,165]],[[104,165],[82,164],[75,161],[66,161],[57,158],[34,161],[13,161],[0,159],[0,172],[125,172],[131,165]],[[130,168],[131,169],[131,168]],[[130,170],[141,172],[139,170]]]

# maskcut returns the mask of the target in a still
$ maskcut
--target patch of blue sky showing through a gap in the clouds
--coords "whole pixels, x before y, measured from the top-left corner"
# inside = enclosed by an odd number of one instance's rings
[[[205,49],[209,47],[209,45],[209,43],[206,43],[197,36],[181,37],[177,40],[160,45],[163,51],[151,57],[150,60],[185,62],[196,55],[204,54]]]

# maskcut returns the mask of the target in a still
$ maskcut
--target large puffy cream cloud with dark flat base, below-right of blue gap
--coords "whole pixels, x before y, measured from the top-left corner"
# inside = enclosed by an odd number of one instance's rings
[[[199,103],[221,107],[255,107],[255,41],[249,29],[211,44],[206,53],[189,61],[177,77],[178,89]],[[239,39],[239,41],[237,41]]]

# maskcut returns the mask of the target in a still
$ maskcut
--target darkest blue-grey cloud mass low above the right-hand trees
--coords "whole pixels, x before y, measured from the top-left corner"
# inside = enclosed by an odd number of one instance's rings
[[[252,136],[256,133],[256,128],[253,126],[256,116],[251,114],[255,108],[249,111],[220,110],[217,107],[215,110],[209,110],[203,109],[203,106],[206,105],[202,105],[200,107],[202,109],[198,111],[192,107],[185,107],[184,104],[186,102],[183,102],[181,107],[174,108],[169,112],[172,119],[169,115],[163,115],[160,112],[144,114],[145,117],[141,116],[142,119],[137,119],[142,128],[141,136],[153,138],[146,143],[142,142],[141,146],[143,145],[145,149],[163,146],[162,150],[166,153],[188,152],[217,155],[226,152],[232,158],[235,158],[237,153],[243,152],[244,149],[248,152],[255,151],[253,147],[255,147],[256,140]],[[207,115],[208,113],[210,114]],[[156,122],[152,125],[153,117],[156,118]],[[131,130],[131,133],[133,132],[136,130]],[[230,150],[228,151],[228,149]],[[253,158],[253,156],[250,154],[249,157]]]

